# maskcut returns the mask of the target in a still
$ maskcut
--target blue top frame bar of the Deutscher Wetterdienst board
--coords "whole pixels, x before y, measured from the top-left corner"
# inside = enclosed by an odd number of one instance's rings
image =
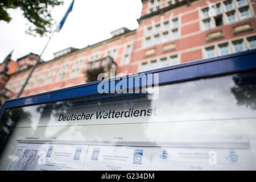
[[[256,69],[256,49],[213,57],[210,59],[192,61],[141,73],[158,73],[159,85],[164,85],[181,81],[196,80],[198,78],[245,72],[253,69]],[[130,77],[126,77],[128,81]],[[114,82],[115,85],[119,82],[119,80],[113,78],[106,81],[109,81],[109,84],[111,84],[111,82],[113,84]],[[47,102],[63,101],[85,96],[95,96],[96,94],[99,94],[97,86],[100,82],[101,81],[95,81],[88,84],[7,100],[0,110],[0,115],[2,116],[6,109],[14,107],[45,104]],[[129,85],[128,88],[131,86],[134,85]],[[140,86],[143,86],[142,83],[140,83]]]

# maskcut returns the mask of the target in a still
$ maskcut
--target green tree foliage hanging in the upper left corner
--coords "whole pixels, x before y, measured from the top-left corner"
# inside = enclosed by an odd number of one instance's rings
[[[28,24],[27,34],[44,36],[51,32],[53,19],[51,9],[54,6],[62,5],[59,0],[1,0],[0,1],[0,20],[10,22],[11,17],[7,13],[8,9],[20,9]]]

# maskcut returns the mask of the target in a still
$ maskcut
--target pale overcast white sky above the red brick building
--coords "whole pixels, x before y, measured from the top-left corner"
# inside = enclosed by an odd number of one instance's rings
[[[72,0],[63,0],[64,5],[51,11],[57,23],[63,18]],[[53,53],[68,47],[84,48],[111,38],[110,32],[121,27],[134,30],[138,28],[137,19],[141,15],[141,0],[75,0],[59,33],[55,32],[46,51],[44,61],[54,58]],[[0,63],[14,50],[12,59],[16,60],[30,52],[40,55],[46,46],[47,37],[25,34],[28,20],[19,9],[9,9],[10,23],[0,21]]]

